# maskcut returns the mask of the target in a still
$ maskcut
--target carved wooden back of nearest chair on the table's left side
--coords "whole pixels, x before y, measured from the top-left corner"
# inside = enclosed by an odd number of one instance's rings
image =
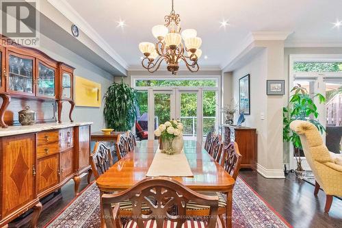
[[[95,179],[98,179],[113,165],[111,151],[103,142],[96,142],[94,151],[90,155],[90,165]]]

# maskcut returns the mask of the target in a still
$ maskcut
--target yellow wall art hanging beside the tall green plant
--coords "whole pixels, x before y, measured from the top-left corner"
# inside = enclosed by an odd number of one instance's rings
[[[101,107],[101,84],[75,76],[75,103],[77,106]]]

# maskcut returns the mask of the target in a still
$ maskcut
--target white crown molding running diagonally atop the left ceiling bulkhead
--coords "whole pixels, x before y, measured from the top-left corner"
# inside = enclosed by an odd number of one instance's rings
[[[126,70],[129,68],[124,59],[90,26],[86,20],[73,8],[66,0],[48,0],[54,8],[60,11],[69,21],[77,25],[81,31],[91,38],[96,44],[103,49],[111,58],[120,64]]]

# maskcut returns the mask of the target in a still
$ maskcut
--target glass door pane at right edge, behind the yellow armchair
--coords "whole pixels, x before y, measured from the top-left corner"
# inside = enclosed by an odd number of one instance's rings
[[[326,146],[341,153],[342,81],[326,82]]]

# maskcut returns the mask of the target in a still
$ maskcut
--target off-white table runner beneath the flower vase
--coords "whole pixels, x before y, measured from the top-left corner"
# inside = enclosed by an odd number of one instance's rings
[[[174,155],[161,153],[159,148],[146,173],[147,177],[194,177],[184,151]]]

